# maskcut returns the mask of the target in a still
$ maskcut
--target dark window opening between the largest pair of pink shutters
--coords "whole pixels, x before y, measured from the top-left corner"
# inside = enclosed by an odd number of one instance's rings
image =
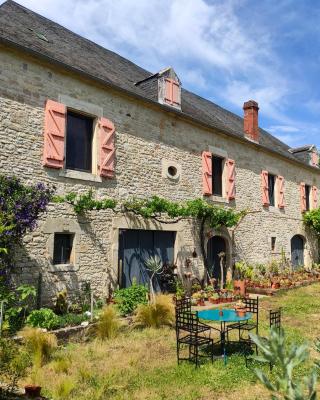
[[[93,119],[68,112],[66,169],[92,171]]]

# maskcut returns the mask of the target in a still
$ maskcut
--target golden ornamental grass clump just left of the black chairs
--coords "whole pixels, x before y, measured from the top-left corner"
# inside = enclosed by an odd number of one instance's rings
[[[136,322],[139,325],[160,328],[171,325],[174,320],[174,305],[171,296],[160,294],[151,304],[141,304],[137,308]]]

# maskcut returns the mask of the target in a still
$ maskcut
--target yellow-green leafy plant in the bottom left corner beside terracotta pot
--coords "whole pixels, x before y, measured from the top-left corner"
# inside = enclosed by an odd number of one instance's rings
[[[27,352],[11,339],[0,339],[0,381],[2,385],[8,385],[8,391],[16,390],[19,379],[26,376],[29,365]]]

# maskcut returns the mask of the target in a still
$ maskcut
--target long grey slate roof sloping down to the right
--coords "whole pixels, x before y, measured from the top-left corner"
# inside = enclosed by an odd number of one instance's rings
[[[147,87],[135,85],[152,73],[12,0],[0,7],[0,42],[157,102]],[[168,106],[158,105],[168,109]],[[186,115],[231,136],[244,137],[241,117],[185,89],[181,94],[181,110],[170,108],[171,112]],[[289,146],[261,128],[259,146],[299,162],[289,152]]]

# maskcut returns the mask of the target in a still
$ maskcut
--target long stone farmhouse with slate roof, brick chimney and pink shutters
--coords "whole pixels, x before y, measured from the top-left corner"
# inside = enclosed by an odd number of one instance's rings
[[[281,254],[293,266],[318,261],[302,222],[318,205],[317,149],[291,149],[259,128],[257,102],[235,115],[184,89],[173,68],[151,74],[10,0],[0,7],[0,51],[1,174],[53,184],[61,195],[204,196],[248,209],[237,227],[208,230],[213,276],[221,251],[228,266]],[[84,282],[107,296],[133,278],[143,282],[150,254],[182,274],[186,263],[203,273],[191,221],[159,224],[111,210],[86,219],[54,203],[25,237],[15,274],[35,284],[41,273],[44,301]]]

